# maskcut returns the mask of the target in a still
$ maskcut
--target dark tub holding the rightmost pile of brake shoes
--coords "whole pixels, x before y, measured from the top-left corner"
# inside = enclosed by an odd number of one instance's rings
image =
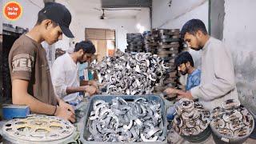
[[[233,137],[220,134],[218,130],[211,124],[210,124],[210,128],[212,130],[215,143],[218,143],[218,144],[226,144],[226,143],[240,144],[241,143],[242,144],[243,142],[246,142],[246,139],[249,138],[250,134],[254,130],[254,119],[253,119],[252,130],[250,131],[249,134],[246,134],[245,136],[242,136],[242,137],[233,138]]]

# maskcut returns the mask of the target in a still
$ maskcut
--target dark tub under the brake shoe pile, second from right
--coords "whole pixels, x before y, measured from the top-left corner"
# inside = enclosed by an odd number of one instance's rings
[[[206,130],[203,130],[200,134],[197,135],[181,135],[188,142],[200,143],[204,142],[211,134],[210,126],[207,126]]]

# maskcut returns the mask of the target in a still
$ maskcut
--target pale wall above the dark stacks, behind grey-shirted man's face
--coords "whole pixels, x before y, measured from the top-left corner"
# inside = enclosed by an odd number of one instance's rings
[[[192,18],[201,19],[208,30],[207,0],[153,0],[153,28],[182,29],[183,24]],[[194,65],[200,69],[201,52],[189,50],[194,59]]]

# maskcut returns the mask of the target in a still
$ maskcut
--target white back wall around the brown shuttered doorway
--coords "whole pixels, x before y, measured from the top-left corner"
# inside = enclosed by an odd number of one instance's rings
[[[66,2],[58,0],[57,2],[62,3],[69,8],[72,14],[72,22],[70,29],[75,34],[74,42],[79,42],[85,39],[85,28],[103,28],[111,29],[116,31],[116,47],[122,51],[126,49],[126,33],[140,32],[139,28],[143,30],[150,30],[150,15],[149,10],[141,10],[134,18],[111,18],[111,19],[100,19],[99,14],[75,14],[73,8],[68,6]],[[138,24],[141,27],[138,27]],[[63,50],[67,50],[70,40],[63,38],[64,41],[58,42],[57,46],[62,47]]]

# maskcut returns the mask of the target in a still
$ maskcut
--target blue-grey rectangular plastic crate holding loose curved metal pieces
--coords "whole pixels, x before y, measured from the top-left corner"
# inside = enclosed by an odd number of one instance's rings
[[[81,122],[79,122],[80,124],[80,141],[82,143],[88,143],[88,144],[105,144],[105,143],[128,143],[128,142],[94,142],[94,141],[87,141],[87,138],[90,136],[90,131],[88,130],[87,123],[88,123],[88,118],[90,116],[90,111],[93,110],[93,104],[96,100],[104,100],[106,102],[111,102],[111,100],[113,98],[116,97],[121,97],[124,100],[126,100],[126,102],[133,102],[134,99],[142,97],[142,98],[146,98],[146,100],[148,100],[149,102],[154,100],[157,101],[161,104],[161,113],[162,113],[162,119],[163,119],[163,134],[166,137],[166,140],[163,142],[130,142],[130,143],[136,143],[136,144],[141,144],[141,143],[158,143],[158,144],[163,144],[163,143],[167,143],[167,120],[166,120],[166,110],[165,110],[165,103],[163,102],[162,98],[160,98],[157,95],[94,95],[92,98],[90,98],[90,102],[86,108],[86,113],[85,116],[82,118]]]

